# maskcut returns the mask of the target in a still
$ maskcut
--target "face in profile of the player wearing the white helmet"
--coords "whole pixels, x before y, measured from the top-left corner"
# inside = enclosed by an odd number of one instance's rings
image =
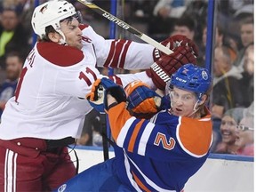
[[[79,22],[75,18],[73,20],[64,20],[60,22],[60,28],[68,45],[82,49],[82,31],[79,28]]]

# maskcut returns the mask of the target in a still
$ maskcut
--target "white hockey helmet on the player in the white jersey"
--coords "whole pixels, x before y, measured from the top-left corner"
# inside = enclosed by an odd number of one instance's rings
[[[52,26],[65,40],[65,36],[60,31],[60,20],[64,20],[75,14],[75,7],[67,1],[48,1],[37,6],[34,10],[31,20],[32,28],[40,38],[43,38],[45,36],[45,28]]]

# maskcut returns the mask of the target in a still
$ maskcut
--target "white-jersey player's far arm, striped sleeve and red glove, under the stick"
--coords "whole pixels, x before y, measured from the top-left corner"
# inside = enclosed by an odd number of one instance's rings
[[[83,36],[91,41],[99,67],[147,69],[150,65],[164,56],[150,44],[140,44],[124,39],[106,40],[99,36],[90,26],[83,30]],[[196,44],[186,36],[171,36],[162,43],[175,51],[178,46],[187,46],[190,52],[197,56]]]

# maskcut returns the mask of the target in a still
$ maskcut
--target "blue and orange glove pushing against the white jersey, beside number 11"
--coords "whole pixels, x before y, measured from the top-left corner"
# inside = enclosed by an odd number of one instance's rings
[[[108,110],[107,94],[111,94],[117,103],[126,101],[124,88],[106,77],[97,79],[92,84],[92,92],[87,96],[87,99],[93,108],[103,112],[104,109]]]

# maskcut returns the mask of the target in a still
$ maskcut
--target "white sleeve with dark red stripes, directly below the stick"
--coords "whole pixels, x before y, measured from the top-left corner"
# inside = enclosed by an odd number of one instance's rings
[[[90,26],[82,28],[84,38],[92,41],[98,67],[145,69],[154,62],[154,47],[124,39],[104,39]]]

